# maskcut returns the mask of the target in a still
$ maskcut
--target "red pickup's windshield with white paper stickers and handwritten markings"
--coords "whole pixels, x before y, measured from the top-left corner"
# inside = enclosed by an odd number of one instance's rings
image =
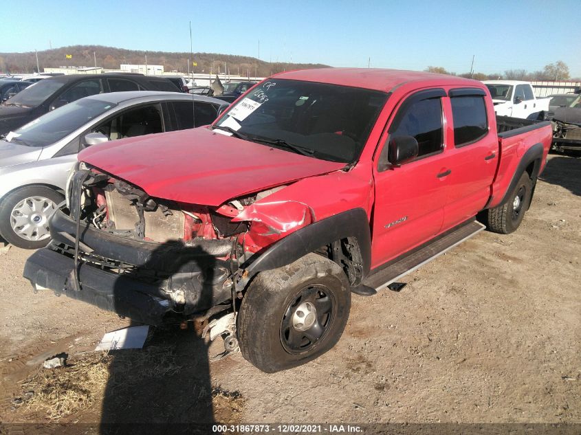
[[[257,143],[352,163],[387,97],[369,89],[268,80],[230,107],[216,125]]]

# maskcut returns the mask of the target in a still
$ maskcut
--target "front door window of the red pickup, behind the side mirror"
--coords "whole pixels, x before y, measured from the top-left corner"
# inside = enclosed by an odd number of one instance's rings
[[[392,136],[413,136],[417,140],[417,157],[438,153],[443,146],[441,98],[430,98],[412,104]]]

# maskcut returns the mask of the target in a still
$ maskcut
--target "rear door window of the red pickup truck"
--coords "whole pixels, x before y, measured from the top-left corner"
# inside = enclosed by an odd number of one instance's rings
[[[488,133],[486,106],[481,96],[450,98],[454,122],[454,142],[464,146],[476,142]]]

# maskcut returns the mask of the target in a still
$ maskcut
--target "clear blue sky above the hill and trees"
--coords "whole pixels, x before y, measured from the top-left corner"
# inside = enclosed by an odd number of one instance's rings
[[[562,60],[581,77],[579,0],[34,1],[3,5],[0,52],[76,44],[484,73]],[[23,12],[26,11],[26,12]],[[10,17],[10,19],[6,19]]]

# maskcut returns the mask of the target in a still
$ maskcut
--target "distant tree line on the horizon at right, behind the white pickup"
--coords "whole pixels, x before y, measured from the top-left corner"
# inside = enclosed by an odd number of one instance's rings
[[[535,81],[581,81],[581,78],[571,78],[569,73],[569,67],[562,60],[558,60],[555,63],[549,63],[540,71],[529,72],[526,69],[507,69],[504,73],[495,74],[484,74],[480,72],[476,73],[463,73],[456,74],[451,71],[447,71],[443,67],[427,67],[424,71],[437,73],[437,74],[449,74],[450,76],[459,76],[465,78],[474,78],[475,80],[525,80],[527,82]]]

